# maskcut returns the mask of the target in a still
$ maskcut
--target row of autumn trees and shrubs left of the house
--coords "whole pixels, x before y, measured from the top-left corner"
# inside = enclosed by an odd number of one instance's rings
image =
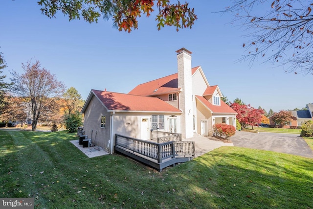
[[[5,60],[0,53],[0,74]],[[39,61],[22,63],[23,73],[10,71],[11,83],[0,76],[0,120],[8,124],[31,125],[35,131],[39,123],[54,127],[64,126],[75,132],[82,125],[80,110],[84,100],[74,87],[66,89],[55,74],[41,66]]]

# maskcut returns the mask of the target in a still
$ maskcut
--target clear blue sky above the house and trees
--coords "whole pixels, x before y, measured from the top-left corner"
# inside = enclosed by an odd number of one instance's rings
[[[86,99],[91,89],[128,93],[136,85],[177,72],[176,50],[192,51],[192,66],[201,66],[210,85],[219,85],[233,101],[268,111],[305,107],[313,102],[312,75],[285,73],[270,63],[237,62],[247,42],[243,28],[229,14],[216,13],[225,1],[189,0],[198,20],[192,29],[157,30],[155,15],[139,19],[138,30],[118,31],[112,21],[69,22],[63,14],[49,19],[36,1],[3,0],[0,7],[0,51],[9,70],[39,60],[57,79]]]

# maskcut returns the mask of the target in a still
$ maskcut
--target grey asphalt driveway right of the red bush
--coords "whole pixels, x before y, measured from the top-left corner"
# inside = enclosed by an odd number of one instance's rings
[[[307,142],[296,134],[259,134],[237,131],[230,138],[234,146],[246,147],[252,149],[261,149],[274,152],[299,155],[307,158],[313,158],[313,151]]]

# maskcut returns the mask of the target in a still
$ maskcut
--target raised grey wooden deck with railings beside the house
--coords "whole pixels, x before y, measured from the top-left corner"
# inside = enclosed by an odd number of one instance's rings
[[[162,171],[167,166],[193,159],[195,142],[172,140],[157,143],[115,134],[114,150]]]

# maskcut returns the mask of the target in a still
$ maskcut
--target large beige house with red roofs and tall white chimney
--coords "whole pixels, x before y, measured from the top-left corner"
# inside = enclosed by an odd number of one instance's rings
[[[153,130],[181,133],[183,139],[212,134],[215,123],[236,127],[236,112],[225,104],[219,86],[210,86],[191,54],[177,52],[178,72],[139,84],[129,93],[91,90],[83,106],[84,131],[112,152],[115,134],[151,139]]]

